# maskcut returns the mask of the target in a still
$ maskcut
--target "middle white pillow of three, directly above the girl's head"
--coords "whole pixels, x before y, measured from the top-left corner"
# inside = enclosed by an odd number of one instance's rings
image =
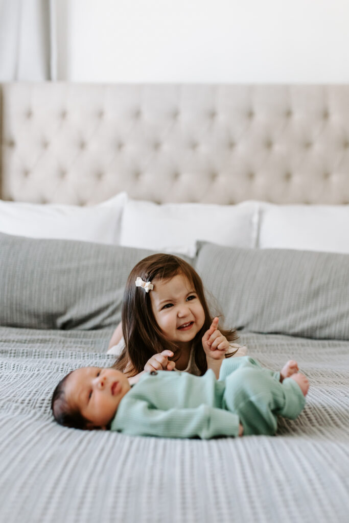
[[[255,247],[258,205],[164,203],[128,200],[123,212],[120,245],[195,256],[196,241]]]

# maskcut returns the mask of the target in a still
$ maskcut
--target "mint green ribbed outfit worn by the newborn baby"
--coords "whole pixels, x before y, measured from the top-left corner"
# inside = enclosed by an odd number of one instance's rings
[[[153,371],[122,398],[111,430],[133,436],[208,439],[273,435],[277,416],[294,419],[305,405],[299,385],[280,373],[262,368],[249,356],[222,362],[219,380],[212,370],[204,376]]]

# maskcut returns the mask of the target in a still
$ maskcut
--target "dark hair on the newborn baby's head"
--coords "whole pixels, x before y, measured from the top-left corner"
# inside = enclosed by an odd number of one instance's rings
[[[86,429],[87,419],[66,401],[65,384],[67,378],[74,372],[69,372],[54,389],[51,400],[51,410],[54,419],[63,427]]]

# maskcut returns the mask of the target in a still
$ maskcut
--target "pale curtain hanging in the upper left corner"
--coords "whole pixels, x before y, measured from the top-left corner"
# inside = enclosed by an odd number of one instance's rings
[[[56,79],[54,0],[0,0],[0,82]]]

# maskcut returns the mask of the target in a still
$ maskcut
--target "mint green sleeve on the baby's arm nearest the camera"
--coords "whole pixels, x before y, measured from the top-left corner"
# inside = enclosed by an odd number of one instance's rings
[[[209,439],[215,436],[238,436],[239,416],[208,405],[196,408],[171,408],[162,411],[148,402],[131,400],[118,410],[111,430],[133,436]]]

